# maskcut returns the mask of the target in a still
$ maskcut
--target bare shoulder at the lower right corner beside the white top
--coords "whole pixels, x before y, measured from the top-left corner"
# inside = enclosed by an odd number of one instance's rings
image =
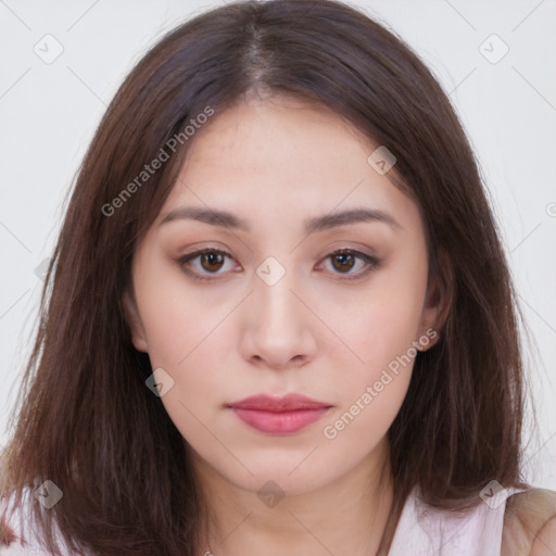
[[[506,501],[504,556],[556,554],[556,492],[531,489]]]

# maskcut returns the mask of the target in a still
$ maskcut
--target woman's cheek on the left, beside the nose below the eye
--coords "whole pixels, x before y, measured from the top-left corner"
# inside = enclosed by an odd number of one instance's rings
[[[155,267],[139,268],[134,278],[149,358],[153,370],[163,368],[174,381],[162,396],[169,417],[184,437],[194,437],[205,433],[198,430],[195,417],[224,403],[223,376],[215,370],[222,368],[230,340],[226,316],[233,304],[229,293],[191,288],[167,264],[164,271],[153,271]]]

